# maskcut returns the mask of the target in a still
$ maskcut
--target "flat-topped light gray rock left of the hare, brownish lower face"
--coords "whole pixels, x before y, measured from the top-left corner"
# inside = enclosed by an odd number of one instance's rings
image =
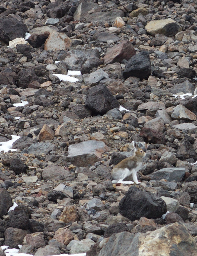
[[[101,160],[101,154],[109,148],[104,142],[88,140],[68,147],[67,159],[76,166],[93,165]]]

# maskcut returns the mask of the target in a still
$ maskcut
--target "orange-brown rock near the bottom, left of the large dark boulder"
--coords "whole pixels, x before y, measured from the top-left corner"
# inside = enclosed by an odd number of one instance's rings
[[[78,215],[77,215],[76,207],[74,205],[66,206],[63,209],[62,214],[59,216],[59,221],[63,221],[64,223],[78,221]]]

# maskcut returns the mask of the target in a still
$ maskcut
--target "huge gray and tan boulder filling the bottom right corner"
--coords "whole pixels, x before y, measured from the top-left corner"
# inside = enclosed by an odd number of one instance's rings
[[[183,223],[175,222],[147,233],[112,234],[97,256],[194,256],[196,250],[196,241],[186,226]]]

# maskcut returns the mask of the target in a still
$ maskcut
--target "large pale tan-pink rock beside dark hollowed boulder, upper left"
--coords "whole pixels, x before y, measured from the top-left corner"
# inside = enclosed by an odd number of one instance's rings
[[[64,33],[53,31],[45,41],[44,49],[48,51],[68,50],[72,45],[72,41]]]

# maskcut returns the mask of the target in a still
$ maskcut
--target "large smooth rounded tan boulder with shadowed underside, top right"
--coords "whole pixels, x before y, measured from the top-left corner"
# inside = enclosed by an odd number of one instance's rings
[[[181,25],[173,19],[152,20],[145,26],[147,33],[151,35],[164,34],[171,36],[182,31]]]

